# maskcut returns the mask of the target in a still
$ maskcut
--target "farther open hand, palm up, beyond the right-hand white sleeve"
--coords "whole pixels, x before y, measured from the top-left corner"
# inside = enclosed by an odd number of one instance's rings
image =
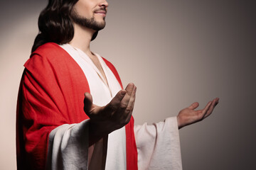
[[[183,110],[181,110],[177,115],[178,128],[183,128],[186,125],[191,125],[207,118],[211,113],[213,113],[213,109],[218,104],[218,101],[219,98],[209,101],[206,107],[202,110],[195,111],[199,106],[198,102],[192,103],[188,108],[183,108]]]

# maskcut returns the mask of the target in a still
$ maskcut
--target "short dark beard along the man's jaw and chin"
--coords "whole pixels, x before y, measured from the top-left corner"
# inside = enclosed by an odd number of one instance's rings
[[[103,18],[104,21],[97,22],[95,21],[94,16],[92,16],[92,18],[85,18],[83,16],[80,16],[75,10],[71,11],[70,17],[74,23],[96,31],[102,30],[103,28],[105,28],[106,25],[105,18]]]

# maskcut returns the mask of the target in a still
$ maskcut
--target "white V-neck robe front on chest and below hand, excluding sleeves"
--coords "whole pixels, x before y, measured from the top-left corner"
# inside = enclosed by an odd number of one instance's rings
[[[84,72],[90,87],[93,103],[97,106],[105,106],[107,103],[110,103],[117,92],[121,90],[121,86],[110,68],[102,60],[102,57],[94,53],[105,72],[107,82],[105,82],[102,74],[85,52],[69,44],[60,45],[60,47],[63,47],[73,57]],[[124,127],[108,135],[105,169],[126,169],[126,135]]]

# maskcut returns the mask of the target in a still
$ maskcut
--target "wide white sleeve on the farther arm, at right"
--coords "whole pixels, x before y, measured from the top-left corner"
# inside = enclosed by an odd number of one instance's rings
[[[176,117],[153,125],[134,125],[138,168],[182,169],[181,147]]]

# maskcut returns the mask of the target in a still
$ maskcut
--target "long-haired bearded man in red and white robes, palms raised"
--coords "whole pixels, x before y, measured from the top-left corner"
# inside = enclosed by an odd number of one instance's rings
[[[18,169],[182,169],[178,128],[208,117],[198,103],[164,123],[134,126],[137,87],[90,50],[105,0],[50,0],[38,19],[18,95]]]

